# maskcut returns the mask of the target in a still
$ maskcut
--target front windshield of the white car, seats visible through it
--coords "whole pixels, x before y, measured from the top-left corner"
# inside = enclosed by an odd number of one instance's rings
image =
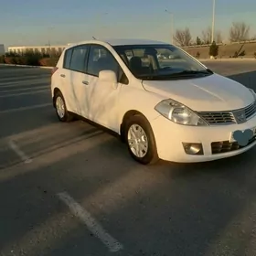
[[[126,45],[113,48],[138,79],[174,80],[212,74],[186,52],[172,45]]]

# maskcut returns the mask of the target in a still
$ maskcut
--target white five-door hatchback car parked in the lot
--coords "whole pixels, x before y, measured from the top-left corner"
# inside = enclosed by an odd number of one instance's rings
[[[157,59],[163,51],[176,59]],[[71,45],[52,71],[51,92],[60,121],[75,114],[118,133],[144,165],[211,161],[256,144],[254,91],[165,42]]]

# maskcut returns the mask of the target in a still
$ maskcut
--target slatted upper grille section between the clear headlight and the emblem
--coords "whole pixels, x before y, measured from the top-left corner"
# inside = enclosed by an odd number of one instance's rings
[[[198,112],[208,124],[230,124],[236,123],[232,112]]]

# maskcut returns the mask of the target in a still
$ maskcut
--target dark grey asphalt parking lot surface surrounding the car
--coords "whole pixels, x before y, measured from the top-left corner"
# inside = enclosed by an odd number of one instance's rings
[[[255,62],[206,63],[256,89]],[[135,163],[59,123],[50,70],[0,66],[0,255],[256,255],[256,148],[212,163]]]

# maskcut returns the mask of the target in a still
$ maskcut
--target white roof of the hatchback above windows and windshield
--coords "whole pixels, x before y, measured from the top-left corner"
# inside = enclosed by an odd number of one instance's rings
[[[127,45],[166,45],[168,43],[150,39],[133,39],[133,38],[110,38],[110,39],[91,39],[86,41],[81,41],[75,44],[70,44],[68,48],[73,46],[79,46],[82,44],[109,44],[114,46],[127,46]]]

